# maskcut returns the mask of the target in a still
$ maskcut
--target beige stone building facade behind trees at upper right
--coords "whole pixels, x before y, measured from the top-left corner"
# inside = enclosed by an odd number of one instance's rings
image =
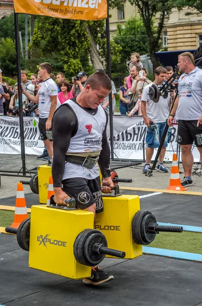
[[[186,16],[187,12],[192,14]],[[113,38],[118,23],[124,27],[125,21],[132,16],[139,16],[139,13],[137,8],[126,0],[119,10],[110,10],[110,15],[110,38]],[[202,44],[202,15],[190,9],[181,11],[173,9],[165,20],[162,32],[163,48],[167,48],[168,51],[196,49],[200,44]]]

